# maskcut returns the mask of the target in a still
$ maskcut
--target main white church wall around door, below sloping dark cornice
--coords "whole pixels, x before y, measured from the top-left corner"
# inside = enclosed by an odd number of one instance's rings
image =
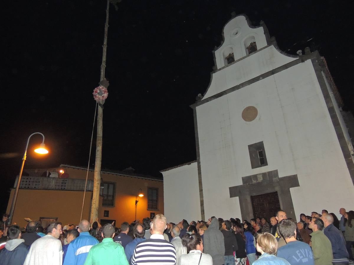
[[[234,71],[223,74],[224,83],[239,74]],[[217,85],[212,82],[208,93],[222,89]],[[252,122],[241,117],[247,106],[258,109]],[[354,187],[310,60],[197,106],[196,113],[206,219],[240,218],[229,187],[271,170],[279,177],[297,174],[300,187],[290,189],[297,218],[302,212],[350,208]],[[251,169],[247,146],[260,141],[268,165]]]

